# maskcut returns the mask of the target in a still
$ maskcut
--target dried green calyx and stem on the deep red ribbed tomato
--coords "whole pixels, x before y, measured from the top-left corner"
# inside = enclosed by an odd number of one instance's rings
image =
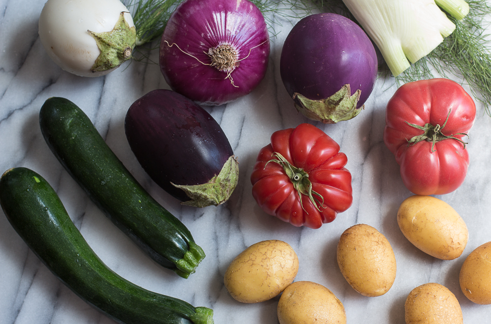
[[[276,159],[272,159],[266,162],[266,165],[268,165],[269,162],[276,162],[283,167],[283,170],[285,170],[286,175],[290,178],[290,181],[293,184],[293,188],[295,188],[295,190],[297,190],[297,193],[299,194],[300,206],[302,206],[302,209],[305,211],[302,203],[302,195],[306,195],[307,197],[309,197],[312,204],[314,204],[315,208],[319,212],[322,212],[318,206],[326,208],[324,207],[324,197],[318,192],[312,190],[312,183],[308,178],[308,173],[305,172],[305,170],[303,170],[302,168],[292,165],[292,163],[288,162],[285,157],[277,152],[274,152],[271,156]],[[266,167],[266,165],[264,167]]]

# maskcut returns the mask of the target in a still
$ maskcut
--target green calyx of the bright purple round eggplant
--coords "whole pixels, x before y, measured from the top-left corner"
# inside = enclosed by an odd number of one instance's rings
[[[293,95],[295,108],[305,117],[323,122],[324,124],[334,124],[343,120],[350,120],[356,117],[364,108],[364,105],[357,108],[361,90],[356,90],[351,94],[351,87],[345,84],[332,96],[322,100],[312,100],[300,93]]]

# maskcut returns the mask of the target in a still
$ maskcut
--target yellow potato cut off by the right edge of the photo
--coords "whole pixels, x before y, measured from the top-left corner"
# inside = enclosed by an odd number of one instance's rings
[[[476,304],[491,304],[491,242],[477,247],[467,256],[459,281],[469,300]]]

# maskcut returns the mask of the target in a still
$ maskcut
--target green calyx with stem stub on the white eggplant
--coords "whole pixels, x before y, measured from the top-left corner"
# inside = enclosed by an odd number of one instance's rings
[[[111,31],[87,32],[94,37],[101,54],[91,68],[92,72],[107,71],[117,68],[131,58],[136,42],[136,29],[130,27],[121,12],[116,25]]]

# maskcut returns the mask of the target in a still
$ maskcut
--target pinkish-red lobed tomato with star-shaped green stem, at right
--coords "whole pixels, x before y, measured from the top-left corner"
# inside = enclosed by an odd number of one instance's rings
[[[387,103],[383,141],[411,192],[445,194],[462,185],[469,165],[463,137],[475,116],[474,101],[455,81],[414,81],[396,90]]]

